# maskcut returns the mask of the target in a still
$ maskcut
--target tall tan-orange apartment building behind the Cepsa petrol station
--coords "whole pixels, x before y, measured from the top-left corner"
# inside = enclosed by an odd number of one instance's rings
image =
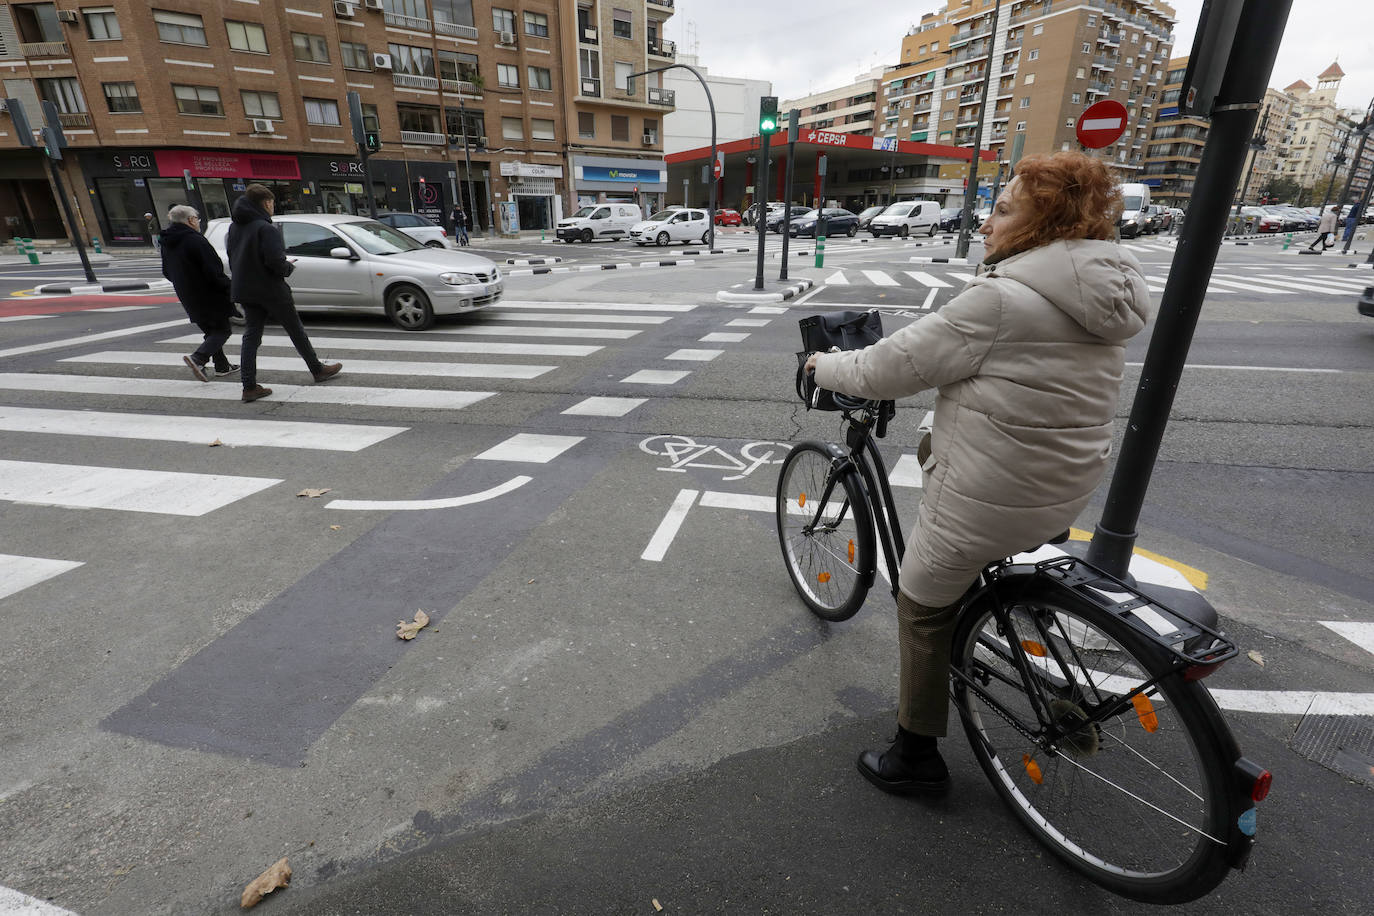
[[[982,146],[1006,165],[1079,147],[1074,125],[1102,99],[1129,113],[1121,140],[1095,155],[1123,179],[1145,163],[1172,47],[1160,0],[947,0],[903,40],[882,77],[881,136]],[[988,106],[981,104],[984,80]]]

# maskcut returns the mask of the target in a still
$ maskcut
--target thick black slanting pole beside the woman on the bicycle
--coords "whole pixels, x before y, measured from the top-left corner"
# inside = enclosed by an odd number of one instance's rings
[[[1293,0],[1249,0],[1239,16],[1230,62],[1212,106],[1212,125],[1198,166],[1189,218],[1173,255],[1150,347],[1140,367],[1135,402],[1102,520],[1088,547],[1088,562],[1125,578],[1135,549],[1136,523],[1164,441],[1173,396],[1183,378],[1231,194],[1245,168],[1248,140],[1274,70]]]

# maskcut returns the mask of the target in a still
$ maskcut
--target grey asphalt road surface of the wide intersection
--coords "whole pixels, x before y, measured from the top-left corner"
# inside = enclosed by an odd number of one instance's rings
[[[1168,242],[1134,247],[1162,284]],[[478,246],[665,257],[622,249]],[[1139,545],[1205,573],[1257,654],[1212,689],[1283,710],[1228,714],[1275,790],[1250,869],[1189,909],[1353,913],[1374,728],[1314,698],[1374,692],[1374,324],[1341,293],[1363,275],[1278,249],[1221,251],[1241,279],[1209,293]],[[952,251],[837,242],[823,269],[794,261],[812,291],[763,306],[716,301],[752,255],[677,255],[515,275],[500,308],[422,335],[316,317],[344,375],[311,386],[269,339],[280,394],[251,405],[187,378],[194,328],[166,297],[5,298],[0,319],[48,317],[0,323],[0,555],[63,569],[0,575],[0,886],[227,913],[289,856],[262,908],[1140,911],[1036,846],[960,737],[945,801],[859,779],[890,732],[890,597],[813,621],[749,508],[769,444],[837,433],[794,404],[796,317],[919,320],[971,272],[926,253]],[[15,273],[5,293],[38,282]],[[930,404],[903,407],[889,466]],[[416,608],[431,625],[397,640]]]

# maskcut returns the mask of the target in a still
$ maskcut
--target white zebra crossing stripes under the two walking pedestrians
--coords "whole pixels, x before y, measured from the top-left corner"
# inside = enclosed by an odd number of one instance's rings
[[[426,334],[408,334],[379,324],[312,324],[313,343],[320,352],[342,357],[349,383],[302,386],[273,378],[272,398],[264,404],[463,411],[502,397],[484,382],[530,380],[559,368],[576,368],[587,357],[607,347],[625,346],[695,308],[682,304],[507,301],[466,323],[441,325]],[[624,387],[624,396],[574,396],[559,412],[574,417],[629,416],[650,401],[653,391],[683,383],[699,367],[725,353],[725,345],[743,342],[779,313],[780,309],[758,308],[747,313],[749,317],[735,317],[741,313],[731,312],[728,324],[721,320],[720,331],[703,330],[698,335],[701,346],[658,352],[657,365],[622,374],[616,385]],[[56,512],[107,509],[202,518],[283,483],[279,477],[191,470],[205,467],[198,461],[198,450],[207,445],[357,453],[409,430],[405,423],[311,422],[245,409],[239,402],[238,378],[212,383],[184,378],[181,357],[201,342],[198,334],[183,334],[184,330],[184,321],[158,321],[0,352],[0,433],[25,437],[22,441],[29,446],[23,457],[0,460],[0,503]],[[121,346],[125,342],[128,346]],[[62,353],[92,343],[100,349]],[[231,358],[236,358],[235,343],[236,338],[228,350]],[[283,349],[291,349],[287,336],[267,335],[260,350],[260,369],[284,372],[287,378],[301,374],[301,361],[294,353],[272,354]],[[5,371],[4,357],[25,357],[23,368],[27,371]],[[36,365],[36,358],[41,364]],[[147,378],[158,371],[176,378]],[[426,379],[426,385],[434,387],[396,385],[398,379]],[[59,407],[5,402],[7,394],[34,393],[60,396],[63,401]],[[170,400],[177,400],[179,409],[155,409],[158,402],[168,404]],[[32,397],[29,401],[32,404]],[[198,412],[196,405],[203,405],[205,411]],[[63,460],[69,448],[65,444],[74,437],[102,442],[155,442],[166,450],[150,455],[159,456],[170,467],[102,467]],[[477,459],[543,464],[581,441],[581,437],[555,438],[517,433]],[[43,455],[43,460],[34,457],[34,444],[37,452],[51,450],[51,456]],[[157,461],[150,459],[147,463]],[[519,483],[503,486],[507,489],[493,488],[485,493],[453,497],[456,503],[453,499],[444,503],[459,505],[493,499]],[[333,508],[353,511],[437,505],[425,501],[411,501],[414,505],[368,500],[337,503]],[[84,564],[81,556],[0,552],[0,600]]]

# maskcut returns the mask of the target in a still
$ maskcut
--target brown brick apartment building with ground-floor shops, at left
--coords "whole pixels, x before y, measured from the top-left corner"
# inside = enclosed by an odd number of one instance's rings
[[[188,199],[227,216],[249,181],[272,187],[282,213],[365,210],[350,91],[381,137],[368,165],[382,209],[445,221],[462,199],[482,227],[551,227],[584,192],[598,194],[580,187],[573,162],[588,139],[603,161],[642,166],[665,187],[649,129],[661,100],[644,88],[599,91],[661,59],[651,54],[672,15],[665,0],[78,3],[0,3],[0,80],[30,121],[41,121],[40,100],[60,111],[65,180],[88,239],[146,244],[143,214],[162,221]],[[602,47],[611,51],[605,62],[592,54],[585,70],[573,66],[581,49]],[[631,132],[629,110],[653,118]],[[7,235],[65,235],[54,231],[38,155],[0,114]],[[654,184],[632,187],[651,194]]]

